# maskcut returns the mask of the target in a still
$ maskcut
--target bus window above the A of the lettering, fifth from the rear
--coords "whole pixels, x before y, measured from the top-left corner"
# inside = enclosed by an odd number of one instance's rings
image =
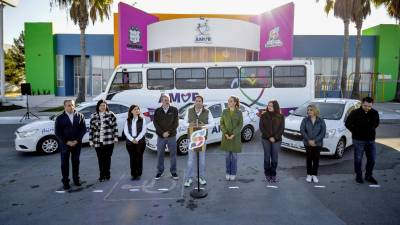
[[[147,89],[149,90],[170,90],[174,89],[173,69],[148,69]]]

